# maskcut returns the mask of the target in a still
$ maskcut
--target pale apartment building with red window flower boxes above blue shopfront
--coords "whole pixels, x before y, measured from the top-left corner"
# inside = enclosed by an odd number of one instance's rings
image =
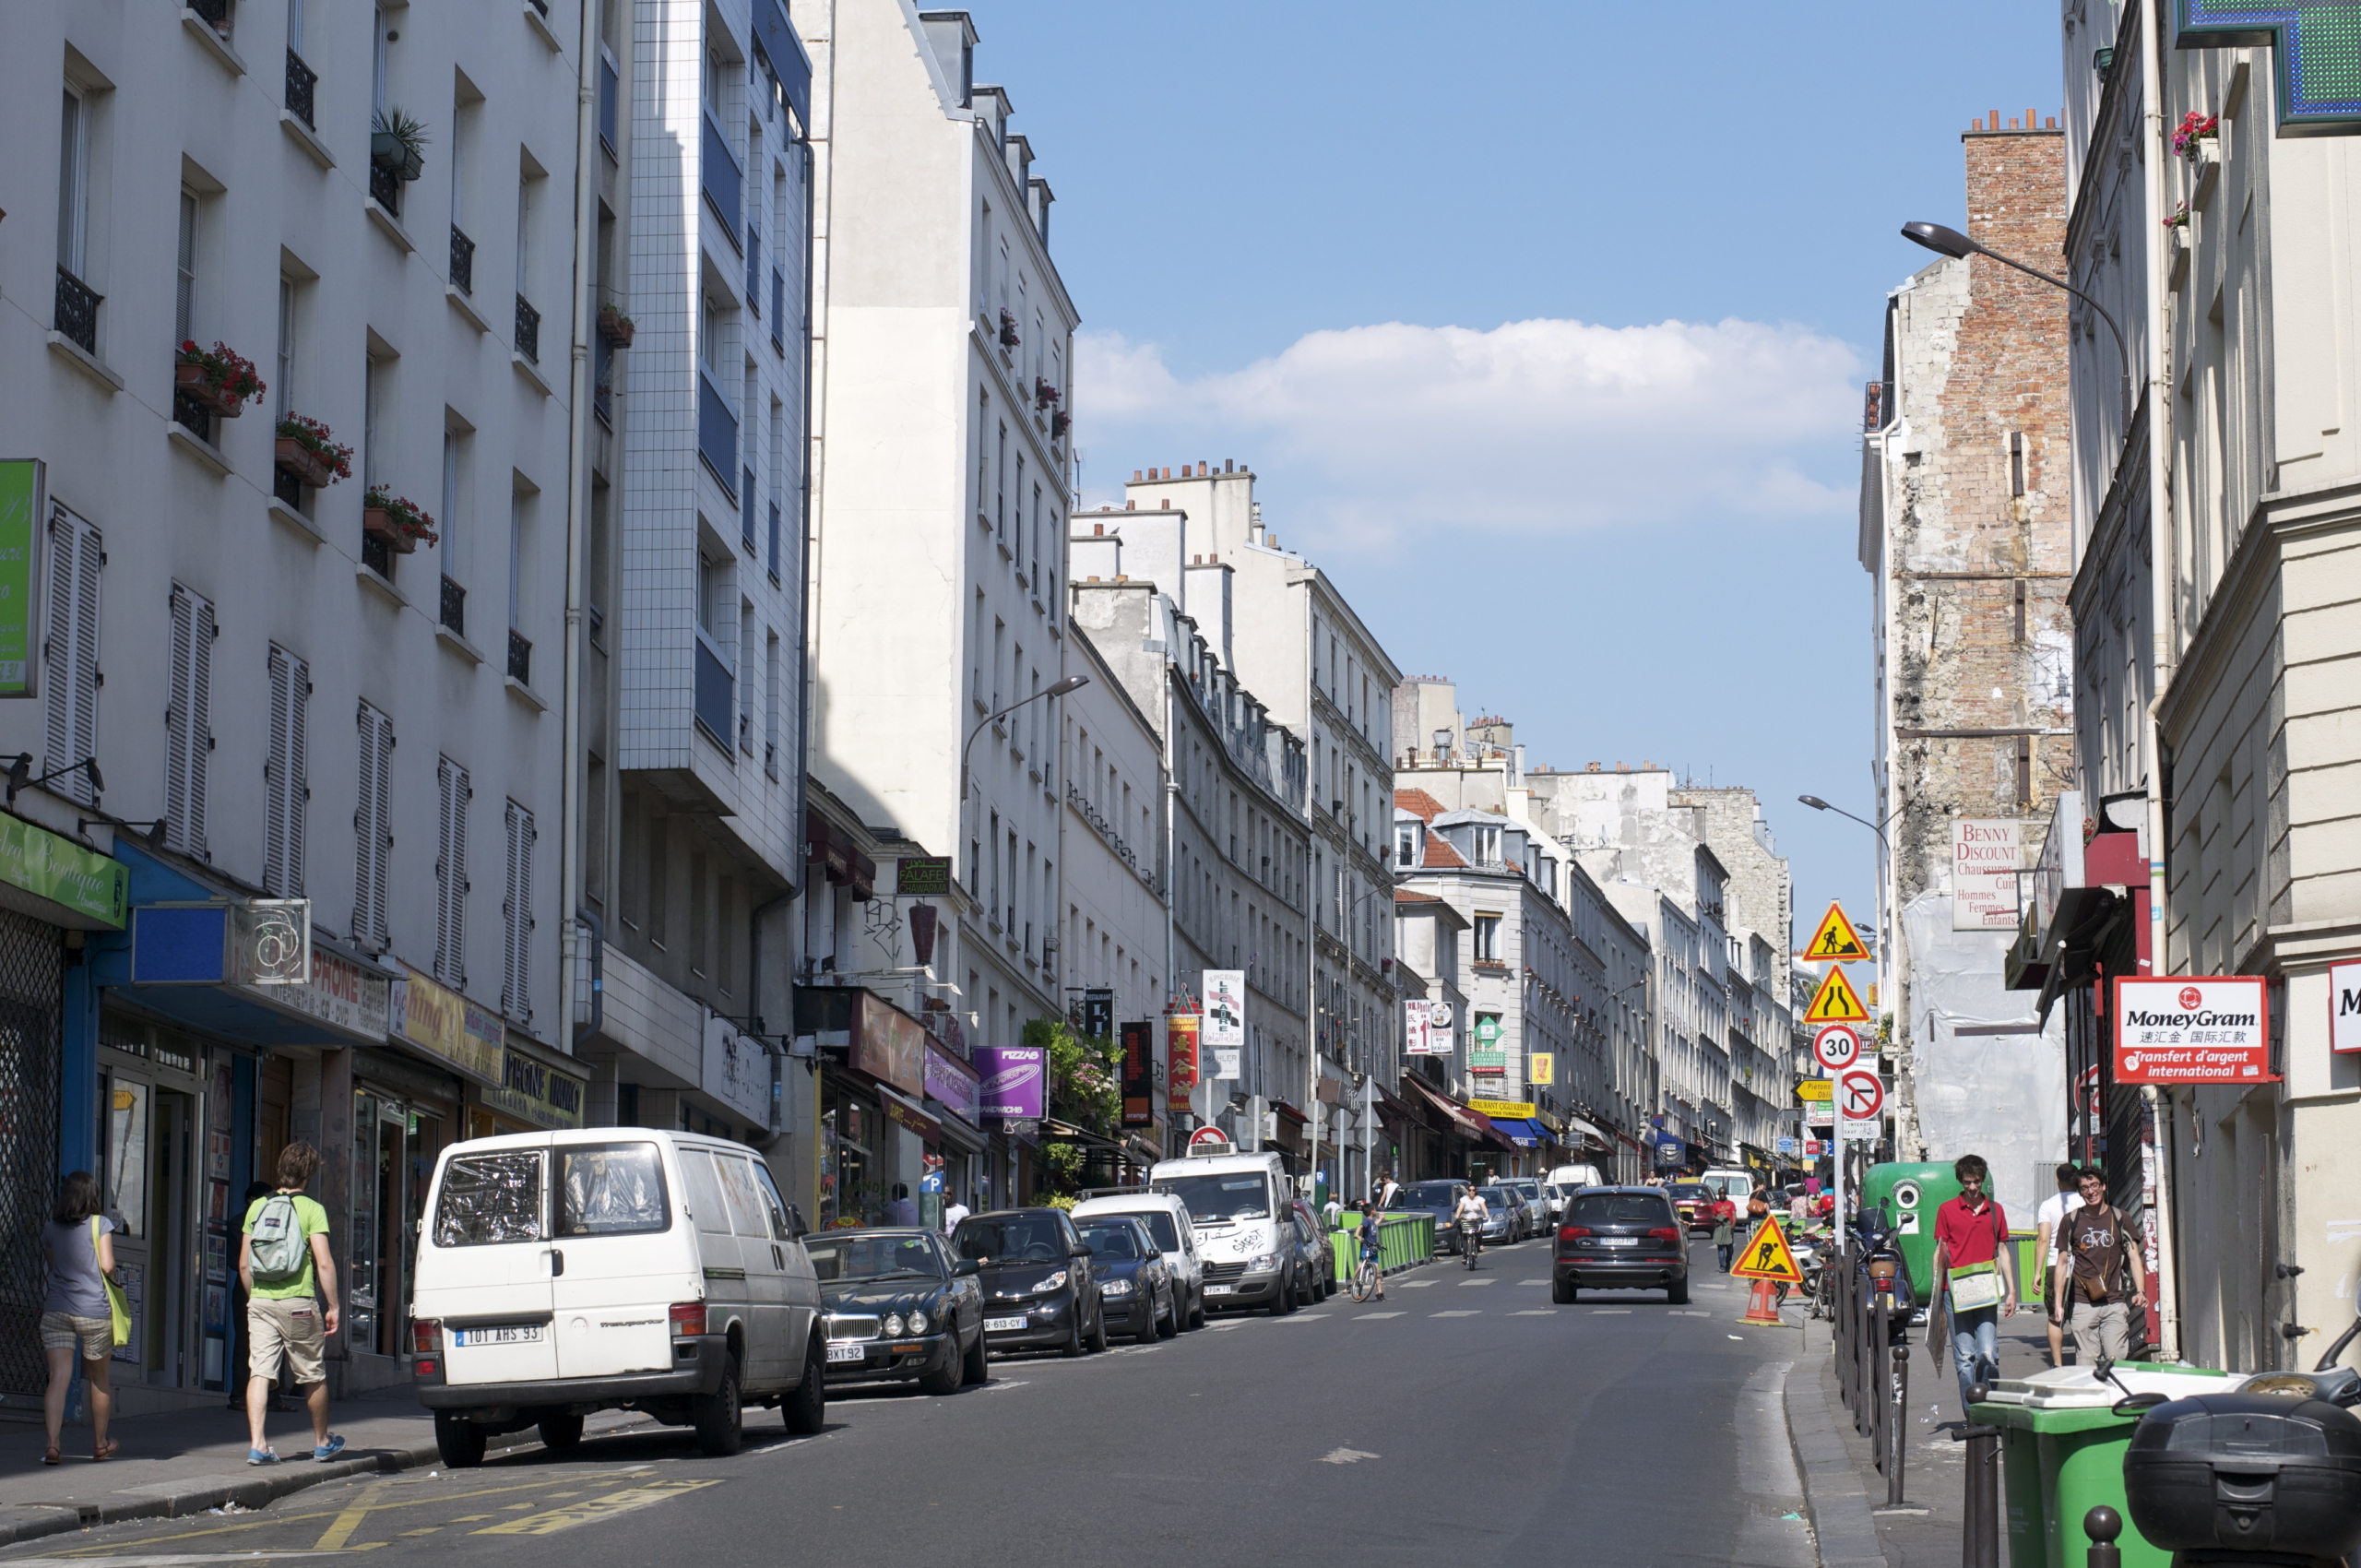
[[[583,40],[534,5],[26,7],[0,83],[0,512],[38,583],[0,836],[52,867],[0,900],[5,1159],[99,1171],[132,1415],[220,1405],[234,1197],[314,1143],[331,1379],[399,1381],[401,1174],[586,1115],[550,852]],[[45,1193],[7,1197],[26,1322]],[[40,1393],[31,1351],[0,1377]]]

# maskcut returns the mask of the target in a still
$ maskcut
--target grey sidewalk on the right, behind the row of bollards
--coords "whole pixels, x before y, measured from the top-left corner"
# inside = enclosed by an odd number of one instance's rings
[[[2028,1377],[2047,1365],[2049,1337],[2040,1315],[2002,1320],[2000,1374]],[[1877,1474],[1870,1440],[1853,1431],[1853,1415],[1837,1398],[1830,1325],[1806,1327],[1804,1360],[1787,1379],[1787,1433],[1804,1471],[1820,1568],[1957,1568],[1967,1516],[1967,1445],[1953,1440],[1960,1379],[1950,1355],[1941,1367],[1927,1358],[1922,1332],[1912,1332],[1910,1344],[1908,1412],[1903,1507],[1886,1509],[1886,1478]]]

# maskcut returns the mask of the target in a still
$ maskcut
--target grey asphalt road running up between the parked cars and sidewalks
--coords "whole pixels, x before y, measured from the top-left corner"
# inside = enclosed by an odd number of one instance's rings
[[[1398,1275],[1291,1318],[1216,1318],[1081,1360],[994,1358],[949,1398],[772,1412],[706,1459],[685,1429],[475,1471],[321,1485],[231,1516],[28,1542],[17,1563],[175,1568],[368,1551],[373,1566],[1714,1563],[1811,1568],[1778,1379],[1712,1268],[1551,1306],[1542,1242]]]

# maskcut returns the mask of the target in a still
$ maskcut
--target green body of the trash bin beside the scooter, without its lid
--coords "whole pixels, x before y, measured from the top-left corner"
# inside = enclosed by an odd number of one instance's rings
[[[2009,1537],[2009,1568],[2085,1568],[2089,1537],[2082,1516],[2101,1502],[2123,1516],[2115,1547],[2125,1568],[2172,1568],[2132,1523],[2123,1502],[2123,1452],[2139,1417],[2106,1405],[2038,1410],[1976,1405],[1971,1419],[2000,1429],[2000,1511]]]

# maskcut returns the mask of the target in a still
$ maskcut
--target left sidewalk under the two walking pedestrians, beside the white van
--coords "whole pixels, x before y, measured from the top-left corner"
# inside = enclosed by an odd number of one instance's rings
[[[378,1389],[328,1410],[328,1431],[345,1436],[345,1452],[312,1462],[312,1417],[300,1407],[267,1419],[264,1431],[283,1464],[246,1464],[246,1415],[222,1405],[172,1410],[113,1422],[106,1436],[123,1443],[106,1464],[90,1462],[90,1426],[66,1424],[66,1462],[40,1462],[47,1443],[38,1424],[0,1426],[0,1544],[80,1530],[118,1518],[179,1518],[236,1502],[243,1509],[342,1476],[439,1464],[434,1417],[408,1389]],[[583,1422],[586,1433],[614,1431],[647,1417],[609,1410]],[[531,1429],[491,1438],[505,1450],[538,1443]]]

